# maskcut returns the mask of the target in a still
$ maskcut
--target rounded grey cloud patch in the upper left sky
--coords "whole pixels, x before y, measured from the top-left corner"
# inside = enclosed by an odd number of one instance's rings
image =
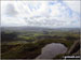
[[[17,15],[17,11],[15,10],[13,4],[8,4],[6,9],[5,9],[5,14],[8,16],[16,16]]]

